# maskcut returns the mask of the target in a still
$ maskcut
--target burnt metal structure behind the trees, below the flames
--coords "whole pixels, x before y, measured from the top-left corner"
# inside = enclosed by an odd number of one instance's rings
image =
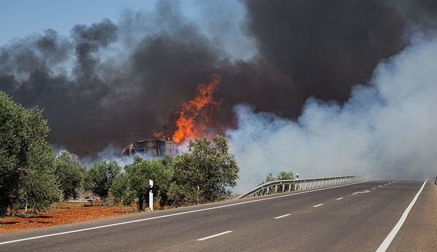
[[[163,155],[176,155],[177,144],[164,138],[151,138],[150,140],[136,141],[124,147],[122,157],[133,157],[136,154],[148,155],[151,157]]]

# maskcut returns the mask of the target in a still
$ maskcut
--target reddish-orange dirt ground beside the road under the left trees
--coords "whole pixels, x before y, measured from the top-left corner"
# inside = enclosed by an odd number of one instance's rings
[[[101,203],[94,203],[94,206],[90,206],[90,203],[83,202],[61,203],[54,205],[47,212],[27,214],[25,217],[7,216],[0,219],[0,233],[122,216],[134,212],[134,207],[108,207]]]

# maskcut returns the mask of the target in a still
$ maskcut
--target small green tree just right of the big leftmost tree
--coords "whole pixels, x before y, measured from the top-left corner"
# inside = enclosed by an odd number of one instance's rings
[[[82,185],[85,173],[86,167],[79,162],[76,155],[65,150],[57,155],[55,158],[55,174],[64,200],[76,199],[77,190]]]

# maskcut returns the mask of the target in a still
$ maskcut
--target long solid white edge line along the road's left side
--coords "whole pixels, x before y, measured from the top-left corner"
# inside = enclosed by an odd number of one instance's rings
[[[355,185],[355,184],[362,184],[362,183],[365,183],[365,182],[368,182],[368,181],[371,181],[371,180],[360,181],[360,182],[355,182],[355,183],[352,183],[352,184],[345,184],[345,185],[340,185],[340,186],[331,186],[331,187],[327,187],[327,188],[320,188],[320,189],[304,191],[304,192],[295,192],[295,193],[292,193],[292,194],[285,194],[285,195],[269,197],[269,198],[263,198],[263,199],[254,199],[252,201],[243,201],[243,202],[239,202],[239,203],[232,203],[232,204],[229,204],[229,205],[219,205],[217,207],[209,207],[209,208],[203,208],[203,209],[198,209],[198,210],[191,210],[191,211],[187,211],[187,212],[178,212],[176,214],[167,214],[167,215],[155,216],[155,217],[150,217],[150,218],[140,218],[138,220],[129,220],[129,221],[124,221],[122,223],[114,223],[114,224],[97,226],[97,227],[88,227],[88,228],[85,228],[85,229],[76,229],[76,230],[72,230],[72,231],[65,231],[65,232],[54,233],[54,234],[46,234],[44,236],[34,236],[34,237],[23,238],[23,239],[18,239],[18,240],[8,240],[6,242],[0,242],[0,245],[14,243],[14,242],[23,242],[25,240],[35,240],[35,239],[46,238],[46,237],[51,237],[51,236],[61,236],[63,234],[72,234],[72,233],[77,233],[77,232],[81,232],[81,231],[88,231],[88,230],[93,230],[93,229],[101,229],[101,228],[105,228],[105,227],[114,227],[114,226],[118,226],[118,225],[126,225],[126,224],[131,224],[131,223],[139,223],[139,222],[146,221],[146,220],[155,220],[157,218],[167,218],[167,217],[178,216],[178,215],[182,215],[182,214],[191,214],[191,213],[195,213],[195,212],[203,212],[203,211],[214,210],[214,209],[219,209],[219,208],[223,208],[223,207],[231,207],[231,206],[234,206],[234,205],[243,205],[243,204],[248,204],[248,203],[253,203],[253,202],[258,202],[258,201],[268,201],[269,199],[278,199],[278,198],[283,198],[283,197],[291,197],[291,196],[294,196],[294,195],[304,194],[304,193],[308,193],[308,192],[317,192],[317,191],[321,191],[321,190],[329,190],[329,189],[332,189],[332,188],[339,188],[339,187],[343,187],[343,186],[352,186],[352,185]]]

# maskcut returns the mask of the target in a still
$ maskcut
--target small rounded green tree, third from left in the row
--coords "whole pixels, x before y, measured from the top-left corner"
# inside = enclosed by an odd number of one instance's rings
[[[94,162],[85,177],[85,189],[91,190],[92,193],[105,201],[112,182],[120,171],[121,167],[114,160]]]

